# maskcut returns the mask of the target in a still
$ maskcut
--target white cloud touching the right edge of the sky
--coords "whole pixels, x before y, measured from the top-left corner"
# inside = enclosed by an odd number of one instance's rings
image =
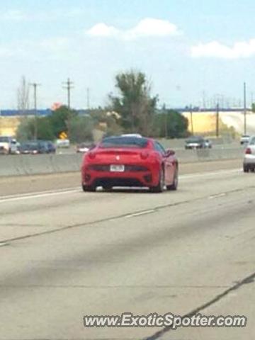
[[[255,39],[248,42],[235,42],[232,47],[212,41],[191,48],[192,57],[214,57],[221,59],[240,59],[255,56]]]

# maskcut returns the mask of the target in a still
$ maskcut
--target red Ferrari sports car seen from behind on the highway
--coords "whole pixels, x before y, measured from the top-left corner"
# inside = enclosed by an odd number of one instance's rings
[[[97,186],[148,187],[154,193],[176,190],[178,161],[175,152],[145,137],[107,137],[84,156],[81,166],[84,191]]]

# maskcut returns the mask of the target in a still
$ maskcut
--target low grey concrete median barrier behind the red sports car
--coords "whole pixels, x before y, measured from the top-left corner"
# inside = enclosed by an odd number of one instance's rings
[[[178,150],[180,163],[242,159],[243,149]],[[82,154],[0,155],[0,176],[57,174],[79,171]]]

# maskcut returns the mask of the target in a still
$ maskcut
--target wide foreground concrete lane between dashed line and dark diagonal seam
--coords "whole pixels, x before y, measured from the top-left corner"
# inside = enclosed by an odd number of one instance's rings
[[[2,248],[4,339],[141,339],[157,329],[84,329],[82,317],[186,314],[212,300],[254,271],[247,191]]]

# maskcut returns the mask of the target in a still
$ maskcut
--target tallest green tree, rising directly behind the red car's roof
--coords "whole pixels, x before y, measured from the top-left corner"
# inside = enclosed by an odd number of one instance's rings
[[[150,95],[151,86],[142,72],[131,70],[116,76],[119,96],[110,96],[111,108],[120,114],[120,125],[127,132],[150,135],[157,96]]]

